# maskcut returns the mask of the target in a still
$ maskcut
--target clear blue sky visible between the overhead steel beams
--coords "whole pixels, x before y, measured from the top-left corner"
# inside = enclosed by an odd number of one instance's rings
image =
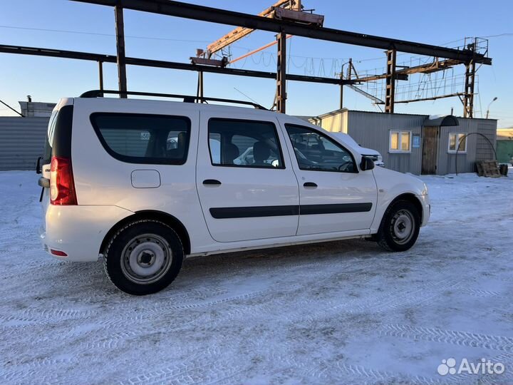
[[[223,9],[257,14],[274,0],[189,1]],[[475,98],[476,116],[486,114],[499,119],[499,127],[513,125],[513,2],[491,1],[334,1],[304,0],[307,9],[325,15],[324,25],[378,36],[419,41],[447,46],[465,36],[489,37],[492,66],[478,71],[479,95]],[[169,16],[125,10],[127,56],[188,62],[195,48],[204,48],[232,29],[231,26],[210,24]],[[46,30],[46,31],[43,31]],[[53,31],[48,31],[53,30]],[[66,0],[1,0],[0,43],[20,46],[41,46],[74,51],[115,54],[113,9],[75,3]],[[496,36],[500,35],[500,36]],[[142,39],[145,38],[145,39]],[[146,39],[147,38],[147,39]],[[233,57],[247,53],[274,40],[274,34],[257,31],[232,47]],[[333,76],[342,63],[353,58],[358,71],[381,71],[385,54],[374,48],[315,41],[300,37],[289,39],[289,72]],[[94,62],[60,58],[43,58],[0,53],[0,99],[19,108],[17,101],[31,95],[33,101],[57,101],[63,96],[77,96],[98,88],[98,66]],[[235,68],[275,71],[276,46],[268,48]],[[410,55],[400,55],[398,62],[409,61]],[[463,66],[455,74],[463,73]],[[117,88],[114,64],[104,65],[105,87]],[[413,80],[413,79],[412,79]],[[207,73],[205,94],[226,98],[247,94],[264,106],[271,106],[275,83],[272,80],[243,78]],[[403,82],[401,82],[403,84]],[[128,67],[128,88],[134,91],[155,91],[195,94],[196,73],[158,68]],[[236,91],[237,88],[239,91]],[[338,86],[314,83],[288,83],[287,113],[318,115],[338,108]],[[377,111],[367,98],[350,89],[345,91],[344,106],[351,109]],[[398,104],[396,112],[445,114],[454,108],[462,115],[462,103],[457,98],[438,101]],[[0,115],[11,115],[0,106]]]

